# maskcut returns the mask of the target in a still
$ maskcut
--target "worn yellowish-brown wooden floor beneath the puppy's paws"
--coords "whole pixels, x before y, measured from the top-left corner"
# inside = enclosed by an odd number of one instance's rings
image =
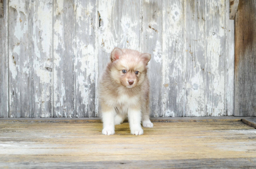
[[[241,119],[155,122],[140,136],[128,123],[112,136],[101,129],[83,120],[0,120],[0,168],[256,168],[256,130]]]

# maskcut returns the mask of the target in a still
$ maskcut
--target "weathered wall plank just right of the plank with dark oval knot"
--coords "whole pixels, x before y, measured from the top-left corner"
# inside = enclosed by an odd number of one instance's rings
[[[74,117],[73,1],[54,0],[53,29],[53,117]]]

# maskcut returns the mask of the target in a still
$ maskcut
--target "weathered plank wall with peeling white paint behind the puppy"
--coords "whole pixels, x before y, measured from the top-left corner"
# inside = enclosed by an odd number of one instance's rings
[[[1,117],[99,116],[98,79],[114,47],[151,54],[151,116],[233,115],[229,1],[4,3]]]

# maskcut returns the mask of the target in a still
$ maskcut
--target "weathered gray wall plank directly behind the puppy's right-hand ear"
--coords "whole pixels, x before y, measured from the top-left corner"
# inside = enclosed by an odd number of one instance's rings
[[[162,117],[162,1],[142,1],[142,52],[150,53],[150,116]]]

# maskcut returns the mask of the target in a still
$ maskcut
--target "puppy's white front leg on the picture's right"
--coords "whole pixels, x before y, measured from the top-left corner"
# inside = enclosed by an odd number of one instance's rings
[[[128,108],[128,120],[130,125],[131,134],[142,135],[143,129],[141,128],[141,110],[138,107]]]

